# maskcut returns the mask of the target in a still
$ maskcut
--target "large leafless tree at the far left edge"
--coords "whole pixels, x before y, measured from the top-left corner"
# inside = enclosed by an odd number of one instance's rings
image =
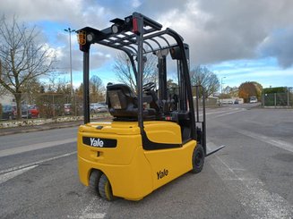
[[[37,41],[39,32],[19,24],[0,21],[0,84],[15,97],[17,118],[22,118],[22,93],[29,80],[50,72],[55,54]]]

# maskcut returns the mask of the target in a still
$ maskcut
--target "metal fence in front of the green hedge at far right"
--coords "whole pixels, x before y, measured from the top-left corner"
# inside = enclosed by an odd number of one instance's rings
[[[279,107],[279,106],[292,107],[293,106],[293,94],[292,94],[292,92],[263,94],[262,105],[263,106],[275,106],[275,107]]]

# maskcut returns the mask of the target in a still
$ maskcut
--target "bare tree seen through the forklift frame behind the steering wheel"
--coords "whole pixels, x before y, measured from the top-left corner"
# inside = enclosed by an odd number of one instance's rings
[[[155,82],[157,74],[157,56],[145,55],[146,62],[143,65],[143,83]],[[133,66],[129,57],[125,53],[119,53],[116,56],[114,71],[116,72],[117,80],[125,83],[134,91],[136,91],[136,80],[134,76]]]

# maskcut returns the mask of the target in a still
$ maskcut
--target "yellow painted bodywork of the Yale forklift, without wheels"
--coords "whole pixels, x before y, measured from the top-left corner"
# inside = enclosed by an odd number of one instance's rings
[[[182,145],[176,122],[143,125],[151,141]],[[116,147],[88,146],[83,144],[83,137],[116,139]],[[137,122],[90,122],[80,126],[77,146],[79,176],[84,185],[89,185],[91,170],[97,169],[108,177],[114,196],[139,200],[192,170],[196,141],[190,140],[182,147],[144,150]]]

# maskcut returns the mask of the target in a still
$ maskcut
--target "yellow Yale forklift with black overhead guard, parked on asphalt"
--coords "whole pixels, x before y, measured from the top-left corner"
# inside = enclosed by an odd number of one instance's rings
[[[106,29],[78,30],[84,102],[84,125],[77,142],[79,176],[101,198],[140,200],[182,174],[200,173],[204,157],[222,147],[207,154],[204,98],[200,120],[199,95],[193,96],[193,90],[200,94],[203,88],[192,88],[189,48],[183,38],[141,13],[110,22]],[[92,44],[125,52],[135,75],[136,90],[108,83],[111,122],[90,122]],[[157,56],[158,83],[143,84],[148,54]],[[167,61],[177,64],[177,92],[173,94],[168,89]]]

